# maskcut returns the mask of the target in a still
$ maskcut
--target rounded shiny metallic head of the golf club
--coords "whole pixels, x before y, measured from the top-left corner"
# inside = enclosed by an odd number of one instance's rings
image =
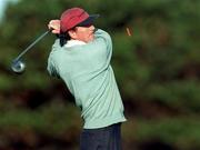
[[[20,60],[14,60],[11,64],[11,69],[16,73],[22,73],[26,69],[26,64]]]

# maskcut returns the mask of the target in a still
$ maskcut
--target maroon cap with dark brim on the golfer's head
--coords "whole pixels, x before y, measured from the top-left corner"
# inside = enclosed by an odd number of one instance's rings
[[[89,14],[81,8],[71,8],[66,10],[60,18],[60,31],[66,32],[76,26],[89,26],[92,24],[99,14]]]

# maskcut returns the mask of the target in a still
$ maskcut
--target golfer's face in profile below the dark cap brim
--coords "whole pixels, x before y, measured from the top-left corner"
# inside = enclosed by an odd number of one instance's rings
[[[90,42],[94,39],[94,26],[90,24],[87,27],[76,27],[76,29],[70,33],[70,37],[74,40]]]

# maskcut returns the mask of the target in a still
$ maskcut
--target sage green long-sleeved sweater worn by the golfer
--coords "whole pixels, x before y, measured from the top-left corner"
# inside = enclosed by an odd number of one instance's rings
[[[93,41],[78,43],[60,47],[59,40],[56,40],[48,59],[49,73],[61,78],[74,96],[76,104],[81,109],[84,129],[126,121],[122,100],[110,66],[110,36],[98,29]]]

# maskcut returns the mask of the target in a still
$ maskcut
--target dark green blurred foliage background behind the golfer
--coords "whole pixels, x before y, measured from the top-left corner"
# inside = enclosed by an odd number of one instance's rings
[[[9,0],[8,0],[9,1]],[[100,13],[128,121],[124,150],[200,149],[200,0],[18,0],[0,22],[0,150],[78,150],[82,121],[61,80],[49,77],[49,34],[10,63],[62,11]],[[127,33],[131,31],[131,37]]]

